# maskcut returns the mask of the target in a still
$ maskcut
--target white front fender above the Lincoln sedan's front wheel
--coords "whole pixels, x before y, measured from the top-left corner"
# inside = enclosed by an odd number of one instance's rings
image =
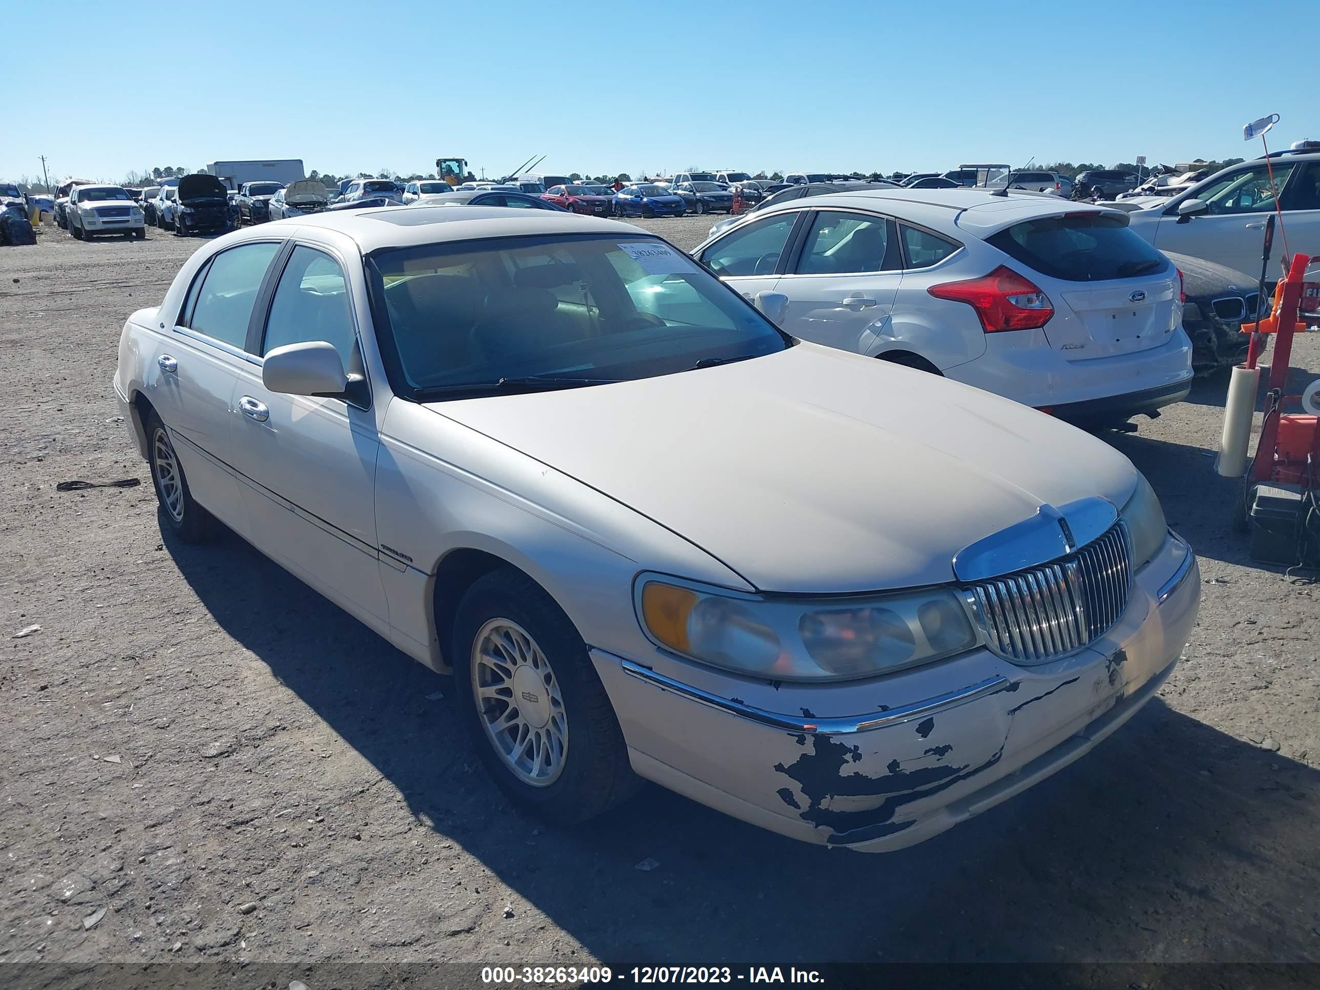
[[[639,572],[751,590],[705,550],[609,495],[409,401],[391,403],[385,414],[376,531],[396,643],[437,669],[434,576],[458,549],[517,566],[589,644],[624,655],[649,648],[632,614]]]

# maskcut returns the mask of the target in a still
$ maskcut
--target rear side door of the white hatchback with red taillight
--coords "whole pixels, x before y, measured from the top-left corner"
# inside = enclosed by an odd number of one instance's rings
[[[783,329],[828,347],[869,352],[903,281],[894,220],[861,210],[813,210],[804,230],[796,257],[775,285],[788,296]]]

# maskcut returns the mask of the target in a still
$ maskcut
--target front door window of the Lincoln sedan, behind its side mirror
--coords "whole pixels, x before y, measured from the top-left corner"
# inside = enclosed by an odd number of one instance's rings
[[[330,255],[298,244],[271,301],[261,356],[286,343],[308,341],[333,343],[346,371],[360,363],[343,269]]]

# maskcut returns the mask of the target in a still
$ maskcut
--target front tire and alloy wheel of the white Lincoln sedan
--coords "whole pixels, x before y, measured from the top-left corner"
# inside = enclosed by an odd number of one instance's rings
[[[527,574],[500,568],[467,590],[453,660],[459,718],[512,800],[574,824],[638,789],[582,636]]]

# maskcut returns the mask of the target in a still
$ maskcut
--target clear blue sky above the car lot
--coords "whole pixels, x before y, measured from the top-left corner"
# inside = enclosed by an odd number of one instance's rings
[[[1241,128],[1270,112],[1276,147],[1320,139],[1315,0],[849,7],[22,4],[0,178],[40,176],[40,154],[104,180],[440,154],[494,176],[533,153],[632,174],[1172,164],[1258,153]]]

